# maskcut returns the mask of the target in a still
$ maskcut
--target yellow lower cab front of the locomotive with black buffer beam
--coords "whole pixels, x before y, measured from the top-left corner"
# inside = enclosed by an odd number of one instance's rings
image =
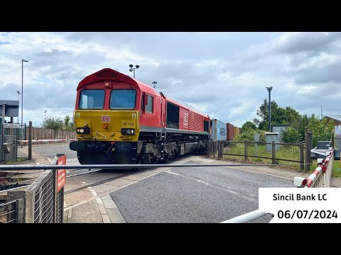
[[[135,164],[140,125],[139,111],[86,111],[74,113],[80,164]]]

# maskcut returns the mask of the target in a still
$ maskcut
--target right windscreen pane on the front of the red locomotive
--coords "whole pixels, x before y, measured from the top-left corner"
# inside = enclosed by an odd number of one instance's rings
[[[110,109],[134,109],[135,89],[113,89],[110,94]]]

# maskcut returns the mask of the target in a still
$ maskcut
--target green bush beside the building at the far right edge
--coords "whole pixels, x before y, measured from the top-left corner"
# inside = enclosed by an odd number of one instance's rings
[[[320,120],[318,116],[312,114],[308,124],[308,130],[313,133],[313,147],[318,145],[318,141],[330,141],[334,131],[334,122],[324,118]]]

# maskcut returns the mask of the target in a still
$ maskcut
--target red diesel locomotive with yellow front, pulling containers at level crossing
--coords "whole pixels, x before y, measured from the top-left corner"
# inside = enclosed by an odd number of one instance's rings
[[[110,68],[85,77],[75,103],[80,164],[155,164],[207,150],[210,118]]]

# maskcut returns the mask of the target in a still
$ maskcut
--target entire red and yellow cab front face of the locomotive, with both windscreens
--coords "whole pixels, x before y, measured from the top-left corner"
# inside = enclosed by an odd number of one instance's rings
[[[80,81],[74,111],[77,140],[70,142],[80,164],[136,164],[139,96],[136,82],[112,69]]]

